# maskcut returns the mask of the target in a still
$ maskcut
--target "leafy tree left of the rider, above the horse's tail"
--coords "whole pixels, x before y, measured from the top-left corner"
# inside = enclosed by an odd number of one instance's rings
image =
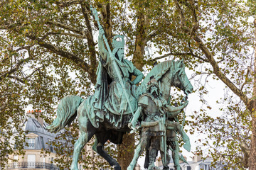
[[[112,4],[113,8],[110,8],[110,1],[92,3],[102,13],[101,21],[109,42],[112,28],[116,27],[114,31],[119,32],[121,23],[118,20],[124,18],[116,17],[117,21],[113,21],[115,17],[112,16],[122,13],[122,4],[119,1]],[[3,108],[6,120],[24,115],[28,105],[43,110],[46,115],[42,116],[47,119],[63,96],[93,94],[90,84],[96,82],[99,57],[94,34],[98,26],[93,22],[87,1],[2,1],[0,8],[1,94],[3,98],[9,96],[6,101],[9,106]],[[130,36],[133,35],[136,34]],[[141,40],[137,41],[137,47],[141,46]],[[143,54],[137,47],[130,50]],[[5,86],[10,93],[6,93]],[[7,113],[9,108],[14,108],[11,102],[23,108],[13,111],[13,116]],[[21,121],[13,120],[14,124]],[[11,136],[5,125],[6,122],[1,124],[1,130]]]

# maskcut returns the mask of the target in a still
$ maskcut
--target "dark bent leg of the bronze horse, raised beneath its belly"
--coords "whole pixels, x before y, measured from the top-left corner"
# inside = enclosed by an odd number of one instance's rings
[[[100,154],[109,164],[110,166],[114,166],[114,170],[121,170],[121,166],[118,164],[118,162],[110,157],[109,154],[104,149],[104,144],[107,142],[107,136],[103,135],[102,133],[100,135],[96,135],[95,143],[92,147],[92,149]]]

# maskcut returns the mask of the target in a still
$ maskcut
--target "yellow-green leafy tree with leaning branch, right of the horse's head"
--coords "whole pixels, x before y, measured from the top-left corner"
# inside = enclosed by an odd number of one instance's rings
[[[249,166],[255,169],[255,98],[252,92],[255,65],[251,55],[255,40],[252,22],[248,22],[255,15],[255,11],[250,13],[255,9],[252,8],[255,1],[247,3],[250,8],[244,1],[176,1],[176,8],[181,18],[182,33],[191,38],[188,50],[194,50],[193,54],[201,60],[198,62],[208,63],[198,74],[220,79],[231,92],[230,96],[223,98],[228,104],[226,109],[222,108],[224,116],[212,118],[201,109],[195,112],[193,118],[198,121],[193,125],[203,125],[197,128],[200,132],[209,130],[208,137],[215,141],[203,144],[212,145],[214,158],[224,159],[229,167],[245,169]],[[205,86],[198,90],[201,94],[208,93]],[[235,101],[237,99],[240,102]]]

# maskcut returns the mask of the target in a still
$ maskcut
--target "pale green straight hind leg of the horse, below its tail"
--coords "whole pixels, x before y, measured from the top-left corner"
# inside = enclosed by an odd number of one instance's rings
[[[85,144],[89,142],[89,140],[94,135],[94,132],[84,132],[81,131],[80,137],[75,142],[74,145],[74,153],[73,153],[73,161],[71,164],[71,170],[78,170],[78,157],[83,147],[85,147]]]

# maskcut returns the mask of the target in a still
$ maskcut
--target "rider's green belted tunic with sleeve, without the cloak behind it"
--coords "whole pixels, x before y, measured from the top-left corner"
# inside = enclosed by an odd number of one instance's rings
[[[132,62],[125,59],[121,62],[115,58],[118,69],[118,71],[116,71],[113,62],[114,61],[110,60],[110,57],[107,57],[107,61],[102,63],[102,66],[105,67],[107,74],[112,79],[104,106],[107,111],[114,113],[115,115],[127,115],[137,110],[137,100],[131,92],[132,85],[130,83],[130,78],[132,75],[137,76],[138,70],[134,67]],[[122,88],[122,82],[120,82],[117,74],[121,74],[124,89]],[[125,96],[124,91],[126,91],[127,96]],[[128,105],[127,97],[131,104],[132,111]]]

